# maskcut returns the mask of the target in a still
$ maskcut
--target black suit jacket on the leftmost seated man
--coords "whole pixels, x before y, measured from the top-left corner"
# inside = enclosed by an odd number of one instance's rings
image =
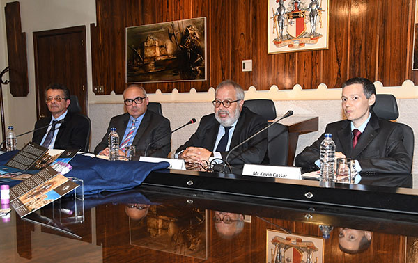
[[[48,117],[38,120],[35,123],[35,129],[49,125],[51,119],[52,116],[49,115]],[[90,130],[90,123],[82,115],[79,115],[79,113],[70,113],[70,111],[67,112],[64,120],[65,121],[59,127],[58,134],[56,134],[54,149],[84,150],[89,139],[88,131]],[[46,132],[47,128],[34,131],[32,141],[40,144]]]

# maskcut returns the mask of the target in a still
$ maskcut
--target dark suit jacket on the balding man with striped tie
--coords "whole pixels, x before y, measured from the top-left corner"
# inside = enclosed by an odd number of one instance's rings
[[[149,143],[155,142],[148,148],[147,156],[167,158],[171,150],[171,128],[170,121],[161,115],[147,110],[144,113],[144,118],[137,130],[132,145],[135,146],[136,157],[144,155],[146,147]],[[111,118],[107,132],[104,134],[102,141],[94,149],[94,153],[98,154],[100,151],[107,148],[108,136],[111,127],[115,127],[121,141],[129,122],[130,115],[125,113]]]

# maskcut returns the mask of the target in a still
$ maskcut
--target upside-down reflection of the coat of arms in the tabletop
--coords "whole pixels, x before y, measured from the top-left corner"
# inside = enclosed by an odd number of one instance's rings
[[[268,263],[323,262],[323,239],[267,230]]]

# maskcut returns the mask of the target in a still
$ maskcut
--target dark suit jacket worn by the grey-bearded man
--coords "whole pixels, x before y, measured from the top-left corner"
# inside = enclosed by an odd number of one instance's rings
[[[247,107],[242,107],[240,118],[233,131],[230,150],[233,147],[245,141],[257,131],[267,126],[267,120],[260,115],[251,112]],[[185,150],[187,147],[201,147],[213,151],[215,147],[217,134],[219,131],[219,122],[215,119],[215,114],[203,116],[196,132],[189,138],[184,145],[181,145],[176,152]],[[226,158],[228,152],[221,152],[222,159]],[[243,164],[261,164],[267,154],[267,131],[263,131],[247,143],[244,143],[228,157],[228,162],[233,169],[233,173],[241,173]]]

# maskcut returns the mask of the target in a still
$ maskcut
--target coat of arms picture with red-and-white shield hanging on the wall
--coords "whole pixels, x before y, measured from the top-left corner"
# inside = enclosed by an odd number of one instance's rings
[[[268,0],[268,53],[328,48],[328,0]]]

